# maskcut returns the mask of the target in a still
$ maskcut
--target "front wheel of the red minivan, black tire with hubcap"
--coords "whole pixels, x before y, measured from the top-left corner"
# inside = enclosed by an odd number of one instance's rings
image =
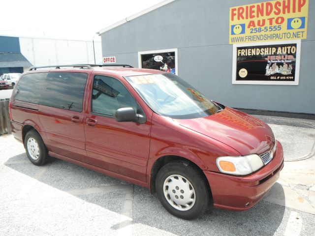
[[[176,178],[177,176],[180,176],[179,180]],[[174,181],[171,180],[171,178],[173,178]],[[169,179],[169,181],[166,181],[166,179]],[[172,181],[173,183],[171,183]],[[178,186],[174,188],[174,186],[177,185],[177,184],[174,185],[174,183],[177,183],[177,181],[180,181],[179,188]],[[181,185],[181,181],[184,182],[183,185]],[[167,197],[164,195],[164,182],[166,184],[165,194]],[[171,184],[174,185],[173,187],[171,187],[174,189],[170,189],[169,190],[170,192],[168,192],[168,189],[170,188]],[[192,194],[191,195],[192,197],[187,197],[189,194],[191,194],[190,192],[187,193],[188,195],[186,195],[185,197],[184,190],[182,191],[181,189],[181,186],[183,186],[184,189],[185,187],[187,187],[186,186],[187,184],[190,189],[189,191],[194,190],[195,194]],[[208,185],[205,182],[205,179],[202,176],[200,170],[196,169],[189,162],[185,161],[170,162],[163,166],[158,171],[158,175],[156,178],[156,191],[158,194],[159,201],[168,212],[186,220],[190,220],[203,215],[209,206],[210,191]],[[176,199],[174,199],[175,197]],[[194,199],[194,203],[190,205],[187,204],[188,206],[186,205],[187,206],[186,208],[178,209],[181,207],[185,207],[184,205],[177,204],[179,203],[178,201],[182,201],[179,199],[179,197],[186,202],[187,201],[189,202],[190,199],[191,201],[193,201]],[[175,201],[173,201],[172,199],[174,199]]]

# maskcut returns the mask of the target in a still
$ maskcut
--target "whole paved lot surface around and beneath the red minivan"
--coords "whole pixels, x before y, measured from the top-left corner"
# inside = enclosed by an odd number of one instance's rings
[[[279,181],[248,211],[209,207],[192,221],[170,215],[156,195],[125,181],[61,160],[34,166],[12,135],[0,136],[0,235],[312,235],[315,120],[259,118],[284,147]]]

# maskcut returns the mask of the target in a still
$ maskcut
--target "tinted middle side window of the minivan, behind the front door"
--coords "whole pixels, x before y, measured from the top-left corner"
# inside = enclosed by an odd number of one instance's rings
[[[40,104],[81,112],[87,78],[86,73],[48,73]]]

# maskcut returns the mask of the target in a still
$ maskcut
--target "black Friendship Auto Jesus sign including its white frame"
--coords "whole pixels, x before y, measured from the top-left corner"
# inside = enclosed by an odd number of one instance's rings
[[[233,84],[298,85],[301,40],[233,45]]]

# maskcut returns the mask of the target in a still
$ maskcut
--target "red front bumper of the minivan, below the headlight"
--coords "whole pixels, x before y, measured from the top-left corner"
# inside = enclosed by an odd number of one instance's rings
[[[278,142],[278,141],[277,141]],[[214,207],[229,210],[247,210],[266,195],[284,167],[284,152],[280,142],[271,162],[247,176],[232,176],[204,171]]]

